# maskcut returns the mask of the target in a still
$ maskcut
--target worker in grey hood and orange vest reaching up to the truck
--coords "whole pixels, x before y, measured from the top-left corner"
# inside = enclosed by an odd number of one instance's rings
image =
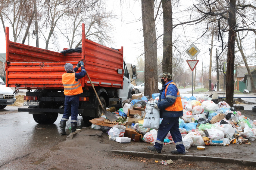
[[[66,63],[65,70],[67,73],[62,75],[62,84],[64,86],[65,105],[64,113],[61,119],[61,134],[65,135],[66,122],[71,115],[71,132],[76,131],[78,106],[79,106],[79,94],[83,93],[81,82],[79,79],[86,76],[83,61],[80,61],[73,69],[73,64]],[[76,71],[81,67],[81,72]]]

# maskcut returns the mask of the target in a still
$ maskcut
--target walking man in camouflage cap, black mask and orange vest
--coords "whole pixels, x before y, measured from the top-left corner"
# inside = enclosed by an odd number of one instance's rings
[[[177,149],[176,151],[171,151],[171,153],[186,154],[179,130],[179,117],[183,116],[180,92],[170,73],[163,73],[161,78],[163,88],[160,91],[159,102],[155,105],[155,108],[160,109],[160,118],[163,118],[163,120],[158,129],[155,145],[148,146],[148,149],[161,153],[164,138],[170,132]]]

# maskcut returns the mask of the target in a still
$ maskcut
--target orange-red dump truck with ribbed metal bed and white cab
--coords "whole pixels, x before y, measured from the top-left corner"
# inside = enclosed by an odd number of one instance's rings
[[[122,101],[135,94],[130,74],[123,61],[123,47],[112,49],[86,39],[82,24],[82,47],[53,52],[9,40],[6,27],[6,87],[27,89],[24,106],[19,112],[29,112],[37,123],[54,123],[64,112],[62,74],[64,64],[74,67],[83,61],[103,106],[121,107]],[[133,66],[133,79],[136,68]],[[81,69],[78,70],[80,72]],[[101,107],[87,76],[81,79],[79,115],[87,122],[101,115]]]

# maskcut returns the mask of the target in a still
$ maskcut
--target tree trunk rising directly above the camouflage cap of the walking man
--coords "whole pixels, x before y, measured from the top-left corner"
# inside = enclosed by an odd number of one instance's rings
[[[164,17],[164,33],[173,28],[173,16],[172,16],[172,1],[163,0],[163,17]],[[163,73],[172,74],[173,66],[173,30],[164,34],[163,37],[163,60],[162,60],[162,69]]]

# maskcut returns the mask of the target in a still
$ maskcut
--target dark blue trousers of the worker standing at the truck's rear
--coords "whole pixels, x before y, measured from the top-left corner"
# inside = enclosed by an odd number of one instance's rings
[[[64,113],[61,121],[68,121],[71,115],[71,123],[77,123],[79,106],[79,94],[74,96],[65,96]]]

